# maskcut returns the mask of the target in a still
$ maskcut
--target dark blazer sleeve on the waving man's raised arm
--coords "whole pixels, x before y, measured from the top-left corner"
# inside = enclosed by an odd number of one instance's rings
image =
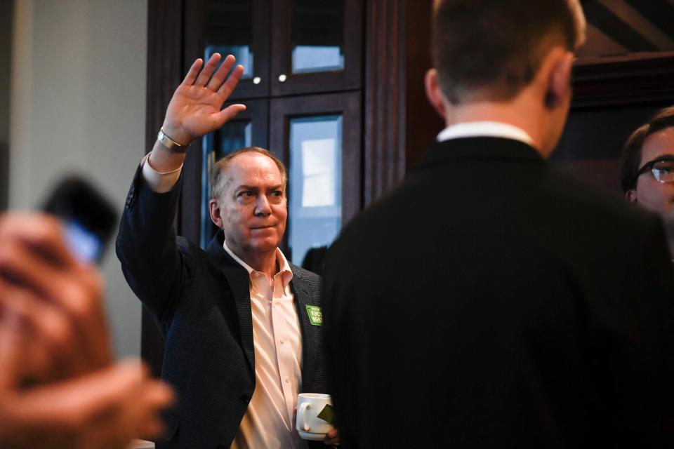
[[[117,235],[117,257],[133,293],[159,321],[166,321],[187,283],[186,257],[178,250],[173,221],[182,177],[169,192],[157,193],[138,168]]]

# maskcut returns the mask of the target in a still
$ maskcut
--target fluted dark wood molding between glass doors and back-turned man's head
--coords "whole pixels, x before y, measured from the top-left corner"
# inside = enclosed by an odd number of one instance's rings
[[[424,93],[431,0],[369,0],[364,83],[364,204],[397,185],[443,122]]]

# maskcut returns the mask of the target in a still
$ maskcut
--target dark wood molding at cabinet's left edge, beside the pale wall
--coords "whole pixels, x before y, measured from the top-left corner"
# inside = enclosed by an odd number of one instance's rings
[[[145,152],[150,152],[164,122],[166,107],[183,77],[183,0],[147,2],[147,97]],[[140,356],[159,377],[164,340],[152,316],[143,309]]]

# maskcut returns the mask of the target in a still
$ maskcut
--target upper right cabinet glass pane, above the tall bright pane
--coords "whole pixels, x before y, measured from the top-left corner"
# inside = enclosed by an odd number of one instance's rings
[[[344,0],[295,0],[293,73],[344,68]]]

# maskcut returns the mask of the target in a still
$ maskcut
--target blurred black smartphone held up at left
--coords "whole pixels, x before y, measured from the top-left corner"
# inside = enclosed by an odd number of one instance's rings
[[[117,227],[117,213],[98,189],[82,177],[66,177],[42,210],[63,222],[65,241],[77,260],[100,263]]]

